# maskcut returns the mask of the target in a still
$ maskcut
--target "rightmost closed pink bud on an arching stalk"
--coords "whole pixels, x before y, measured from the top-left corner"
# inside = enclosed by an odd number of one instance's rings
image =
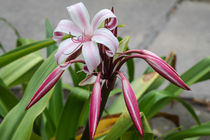
[[[179,77],[176,71],[164,60],[158,59],[152,56],[146,56],[145,60],[148,64],[157,71],[160,75],[165,77],[171,83],[181,87],[185,90],[190,90],[190,88],[184,83],[184,81]]]

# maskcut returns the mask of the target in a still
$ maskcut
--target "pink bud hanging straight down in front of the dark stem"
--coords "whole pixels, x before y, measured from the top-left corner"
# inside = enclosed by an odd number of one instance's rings
[[[101,105],[101,85],[100,85],[101,73],[98,74],[97,79],[94,83],[93,92],[90,100],[90,111],[89,111],[89,131],[90,139],[92,140],[98,124],[100,105]]]

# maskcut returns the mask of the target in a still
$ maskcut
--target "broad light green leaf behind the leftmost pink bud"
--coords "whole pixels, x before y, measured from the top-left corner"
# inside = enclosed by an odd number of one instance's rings
[[[2,140],[28,140],[30,139],[33,123],[36,117],[45,109],[51,92],[46,94],[39,102],[28,111],[25,107],[33,94],[40,87],[46,77],[57,66],[54,53],[40,66],[28,83],[21,101],[6,115],[0,125],[0,139]]]

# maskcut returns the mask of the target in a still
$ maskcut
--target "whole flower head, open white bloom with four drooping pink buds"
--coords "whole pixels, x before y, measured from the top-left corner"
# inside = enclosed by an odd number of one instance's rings
[[[114,87],[116,77],[119,77],[122,82],[125,103],[132,121],[143,137],[138,102],[129,81],[120,71],[123,64],[132,58],[144,59],[155,71],[173,84],[185,90],[189,90],[189,88],[170,65],[148,50],[128,50],[117,53],[119,46],[117,18],[113,9],[99,11],[91,23],[88,11],[83,3],[69,6],[67,10],[72,21],[61,20],[55,28],[53,36],[59,46],[55,55],[59,66],[42,83],[26,109],[29,109],[43,97],[72,63],[83,63],[83,70],[88,76],[82,83],[86,81],[93,81],[94,83],[89,109],[90,139],[94,137],[98,120],[102,114],[100,109],[103,88],[101,88],[101,85],[105,86],[110,92]],[[101,27],[102,23],[104,23],[103,27]],[[66,34],[70,34],[71,37],[62,40]],[[84,60],[77,59],[81,52]]]

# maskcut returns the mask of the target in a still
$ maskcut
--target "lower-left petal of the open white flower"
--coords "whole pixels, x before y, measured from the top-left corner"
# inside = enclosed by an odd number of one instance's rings
[[[70,55],[80,49],[80,47],[81,43],[73,42],[71,38],[62,41],[59,44],[57,53],[55,54],[57,63],[61,65],[66,58],[68,58]]]

